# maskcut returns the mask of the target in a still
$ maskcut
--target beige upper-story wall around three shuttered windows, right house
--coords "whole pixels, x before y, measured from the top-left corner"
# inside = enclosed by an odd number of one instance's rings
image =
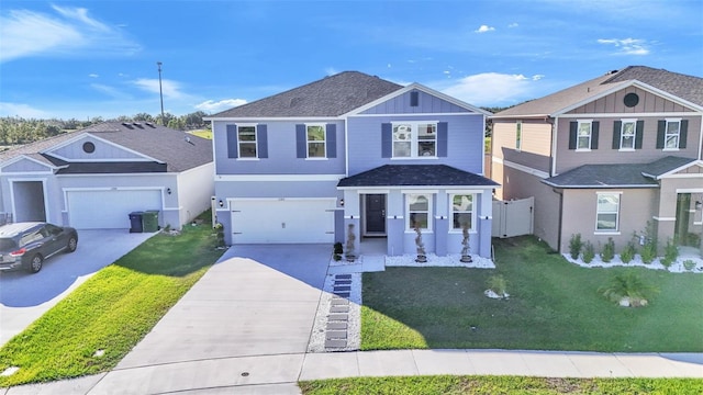
[[[587,163],[648,163],[667,156],[678,156],[684,158],[698,158],[699,142],[701,133],[701,117],[687,116],[681,117],[688,120],[687,147],[676,150],[665,150],[657,148],[658,123],[666,116],[646,116],[636,117],[644,121],[641,149],[620,150],[613,149],[613,128],[614,123],[627,119],[625,116],[617,117],[588,117],[589,120],[599,122],[599,144],[598,149],[582,151],[569,149],[569,128],[570,122],[578,119],[560,117],[558,120],[558,138],[557,138],[557,162],[556,173],[563,173],[576,167]],[[677,119],[680,116],[676,116]],[[632,117],[635,119],[635,117]]]

